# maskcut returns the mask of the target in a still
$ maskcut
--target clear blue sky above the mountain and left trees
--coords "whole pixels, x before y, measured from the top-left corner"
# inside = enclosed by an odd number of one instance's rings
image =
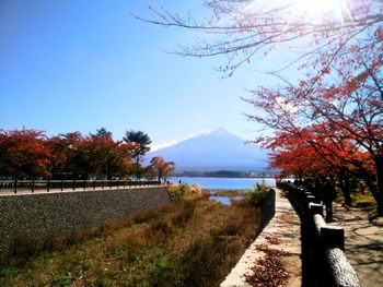
[[[48,135],[105,127],[115,139],[141,130],[154,144],[223,127],[244,139],[257,128],[240,97],[264,84],[242,68],[222,80],[224,59],[165,53],[195,35],[137,21],[148,4],[198,13],[202,1],[1,0],[0,128]]]

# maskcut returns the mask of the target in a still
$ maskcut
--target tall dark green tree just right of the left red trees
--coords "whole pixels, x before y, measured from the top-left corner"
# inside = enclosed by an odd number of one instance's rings
[[[135,176],[138,178],[140,157],[150,151],[151,140],[149,135],[142,131],[126,131],[123,140],[127,144],[132,144],[131,156],[136,158]]]

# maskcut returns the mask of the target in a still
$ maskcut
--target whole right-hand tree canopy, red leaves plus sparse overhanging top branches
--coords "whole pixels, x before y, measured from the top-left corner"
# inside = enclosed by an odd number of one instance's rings
[[[219,70],[228,76],[271,51],[287,53],[286,64],[269,71],[279,82],[243,97],[255,108],[247,119],[274,131],[255,141],[272,148],[270,164],[281,175],[327,174],[339,182],[357,176],[383,214],[383,1],[205,4],[210,16],[201,20],[152,8],[155,16],[144,21],[199,32],[201,40],[176,53],[225,55]]]

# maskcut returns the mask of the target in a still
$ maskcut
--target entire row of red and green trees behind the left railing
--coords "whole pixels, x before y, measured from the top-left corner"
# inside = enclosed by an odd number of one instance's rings
[[[151,140],[141,131],[126,131],[121,141],[101,128],[94,134],[69,132],[47,136],[33,129],[0,129],[0,179],[112,179],[147,178],[165,180],[174,163],[152,158],[141,165]]]

